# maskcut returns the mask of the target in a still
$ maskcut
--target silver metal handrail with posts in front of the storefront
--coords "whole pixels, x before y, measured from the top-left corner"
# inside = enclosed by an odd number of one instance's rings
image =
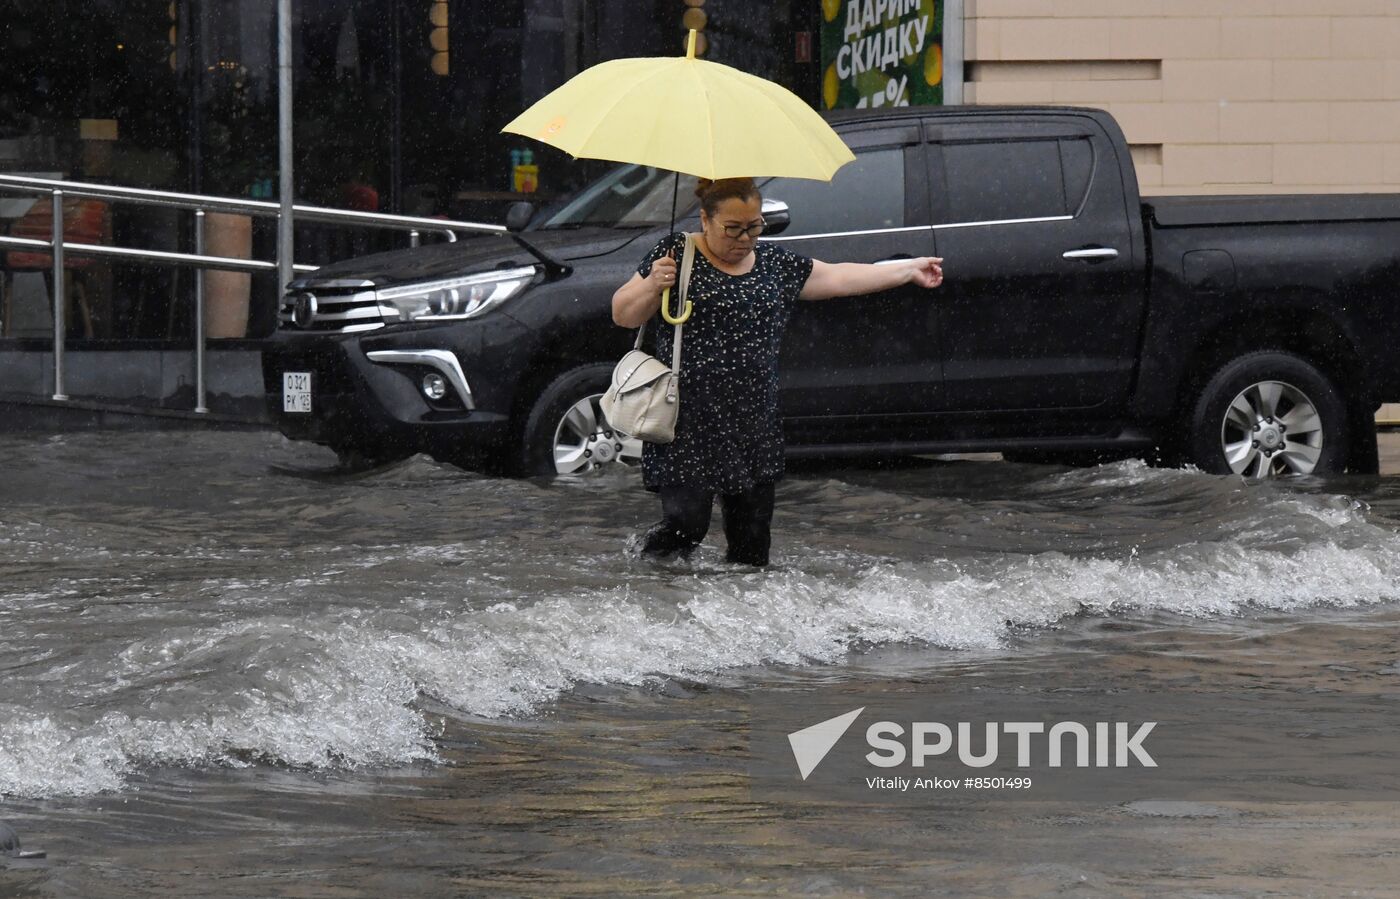
[[[97,185],[80,181],[53,181],[49,178],[27,178],[24,175],[0,175],[0,192],[7,193],[48,193],[53,203],[53,231],[50,239],[41,241],[22,237],[0,235],[0,248],[32,249],[49,252],[53,256],[53,399],[66,400],[63,392],[63,343],[64,343],[64,286],[63,286],[63,256],[64,253],[85,256],[106,256],[112,259],[132,259],[153,265],[192,266],[195,276],[195,412],[209,412],[204,405],[204,270],[220,269],[227,272],[276,272],[277,262],[263,259],[238,259],[234,256],[210,256],[204,252],[204,218],[206,213],[234,213],[244,216],[262,216],[277,218],[281,216],[279,203],[265,200],[246,200],[227,196],[204,196],[199,193],[175,193],[169,190],[148,190],[144,188],[120,188],[115,185]],[[186,209],[195,211],[195,252],[182,253],[164,249],[139,249],[134,246],[106,246],[99,244],[66,244],[63,241],[63,197],[80,196],[115,203],[133,203],[137,206],[164,206],[169,209]],[[419,245],[421,231],[435,231],[448,241],[456,241],[458,231],[477,234],[507,234],[504,225],[486,224],[480,221],[455,221],[451,218],[423,218],[419,216],[388,216],[382,213],[364,213],[349,209],[329,209],[325,206],[294,204],[293,220],[315,221],[321,224],[344,224],[371,228],[392,228],[409,232],[409,245]],[[293,265],[293,272],[315,272],[316,266]],[[286,284],[283,284],[286,287]]]

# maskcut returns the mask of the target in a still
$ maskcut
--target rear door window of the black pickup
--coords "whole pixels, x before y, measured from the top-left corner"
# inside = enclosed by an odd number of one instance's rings
[[[1058,140],[946,143],[944,164],[949,221],[1042,218],[1074,211],[1065,203]]]

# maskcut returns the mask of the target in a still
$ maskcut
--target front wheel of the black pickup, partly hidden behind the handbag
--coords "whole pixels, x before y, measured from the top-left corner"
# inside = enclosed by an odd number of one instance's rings
[[[612,365],[581,365],[554,378],[525,419],[519,469],[525,475],[577,475],[641,462],[641,441],[615,431],[598,400]]]

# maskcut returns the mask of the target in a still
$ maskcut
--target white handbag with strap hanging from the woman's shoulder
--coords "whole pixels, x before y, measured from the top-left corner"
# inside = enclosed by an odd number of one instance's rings
[[[680,258],[680,308],[690,291],[690,269],[694,265],[696,244],[686,234],[686,249]],[[599,400],[603,416],[613,430],[650,444],[669,444],[676,438],[676,416],[680,413],[680,329],[671,343],[671,367],[641,349],[647,332],[643,322],[637,342],[613,368],[612,385]]]

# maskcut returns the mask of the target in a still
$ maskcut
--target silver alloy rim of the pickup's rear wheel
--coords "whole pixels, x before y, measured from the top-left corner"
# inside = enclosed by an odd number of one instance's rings
[[[1221,450],[1236,475],[1266,480],[1310,475],[1322,457],[1317,406],[1285,381],[1260,381],[1235,395],[1221,421]]]

